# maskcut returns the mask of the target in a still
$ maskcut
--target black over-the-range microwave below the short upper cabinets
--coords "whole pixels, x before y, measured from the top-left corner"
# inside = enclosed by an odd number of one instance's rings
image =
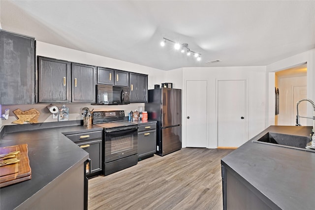
[[[129,87],[96,85],[97,105],[129,104]]]

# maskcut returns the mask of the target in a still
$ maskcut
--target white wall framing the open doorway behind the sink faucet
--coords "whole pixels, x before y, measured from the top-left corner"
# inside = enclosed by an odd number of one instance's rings
[[[267,72],[277,72],[281,71],[293,66],[297,66],[300,64],[307,63],[307,97],[309,99],[312,99],[315,101],[315,49],[297,54],[295,56],[291,56],[289,58],[279,60],[275,63],[272,63],[270,65],[266,66]],[[271,80],[270,80],[271,79]],[[269,99],[273,97],[272,94],[274,94],[271,90],[274,90],[274,80],[272,81],[272,78],[270,78],[267,82],[268,87],[269,87]],[[272,88],[273,87],[273,88]],[[313,110],[310,106],[307,108],[307,115],[308,116],[313,116]],[[272,109],[271,106],[268,108],[268,113],[266,113],[266,118],[268,119],[267,121],[269,122],[267,125],[272,125],[275,122],[274,118],[274,110]],[[307,120],[307,125],[312,126],[313,121],[312,120]]]

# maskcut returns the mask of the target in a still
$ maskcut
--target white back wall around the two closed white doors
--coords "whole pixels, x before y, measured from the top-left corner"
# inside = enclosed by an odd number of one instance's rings
[[[208,83],[208,145],[217,148],[217,110],[216,110],[216,80],[247,80],[248,91],[248,138],[252,138],[265,129],[266,111],[266,67],[195,67],[183,68],[183,90],[187,80],[207,80]],[[185,94],[183,97],[185,104]],[[193,102],[192,102],[193,103]],[[186,110],[183,110],[183,129],[186,126]],[[183,147],[186,138],[183,135]]]

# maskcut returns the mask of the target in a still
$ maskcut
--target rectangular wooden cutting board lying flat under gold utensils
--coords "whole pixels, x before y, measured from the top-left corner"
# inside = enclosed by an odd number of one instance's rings
[[[16,158],[20,162],[0,167],[0,187],[31,179],[32,173],[28,156],[28,145],[0,148],[0,154],[7,154],[11,151],[20,151],[16,155]]]

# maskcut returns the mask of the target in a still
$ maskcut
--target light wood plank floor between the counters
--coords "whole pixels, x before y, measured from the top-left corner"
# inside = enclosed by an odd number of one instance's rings
[[[222,210],[221,158],[233,150],[183,148],[89,180],[89,210]]]

